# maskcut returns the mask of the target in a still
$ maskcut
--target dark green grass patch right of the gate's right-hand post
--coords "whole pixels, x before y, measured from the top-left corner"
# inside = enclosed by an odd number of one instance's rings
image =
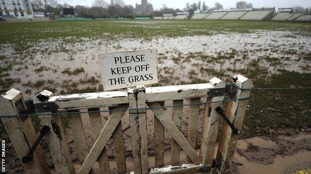
[[[253,80],[255,87],[310,87],[311,73],[280,70],[280,74]],[[311,90],[251,91],[244,119],[244,136],[269,129],[310,128]]]

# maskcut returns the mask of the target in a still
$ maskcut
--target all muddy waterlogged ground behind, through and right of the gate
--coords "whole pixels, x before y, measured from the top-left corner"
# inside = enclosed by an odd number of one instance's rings
[[[55,23],[53,24],[55,28],[36,26],[38,27],[36,31],[40,35],[33,34],[32,26],[20,24],[22,31],[12,32],[0,38],[0,41],[5,41],[0,47],[0,92],[15,88],[22,91],[26,98],[34,97],[43,89],[54,92],[54,95],[103,91],[97,55],[143,49],[158,51],[159,83],[155,86],[205,83],[215,76],[231,82],[231,77],[236,73],[249,77],[254,81],[255,87],[310,86],[310,25],[235,21],[225,23],[206,21],[204,24],[192,21],[188,24],[174,21],[171,22],[174,24],[172,27],[167,25],[167,22],[161,22],[161,26],[157,26],[155,22],[116,22],[119,28],[125,30],[124,33],[131,35],[127,37],[126,34],[100,32],[101,29],[105,30],[115,24],[98,23],[100,25],[96,26],[97,28],[92,26],[88,29],[88,25],[81,25],[80,22],[70,23],[75,25],[74,27],[67,25],[68,23]],[[253,26],[261,24],[263,28],[260,29]],[[5,25],[1,25],[0,28]],[[16,28],[14,24],[8,25],[12,25],[12,31]],[[240,25],[243,27],[238,28]],[[269,28],[271,26],[274,28]],[[134,31],[133,28],[144,30]],[[7,29],[6,32],[8,31],[10,30]],[[55,31],[58,32],[55,34],[53,33]],[[114,32],[113,29],[107,31]],[[146,33],[147,31],[149,33]],[[79,32],[82,32],[81,36],[78,36]],[[24,35],[18,36],[19,34]],[[100,37],[93,37],[96,35]],[[137,35],[139,37],[136,37]],[[241,139],[234,157],[233,173],[247,174],[251,171],[255,174],[269,172],[283,174],[311,167],[311,99],[308,97],[310,95],[310,90],[264,93],[252,91]],[[202,99],[203,101],[205,99]],[[185,100],[184,103],[188,101]],[[165,104],[171,103],[167,101]],[[184,107],[182,116],[181,131],[185,135],[188,110],[189,107]],[[171,108],[166,111],[171,115]],[[204,106],[201,107],[198,116],[198,125],[202,125],[203,111]],[[94,140],[90,134],[90,121],[85,114],[82,118],[86,140],[91,148]],[[108,114],[102,113],[103,124],[107,119]],[[153,114],[148,111],[148,148],[151,167],[154,166],[153,121]],[[33,118],[33,122],[38,131],[37,119]],[[74,140],[65,117],[63,124],[71,156],[78,169]],[[122,127],[128,156],[127,164],[131,170],[133,160],[130,157],[132,146],[128,114],[122,119]],[[200,146],[201,131],[202,126],[198,126],[197,148]],[[4,138],[8,142],[6,146],[7,154],[10,154],[6,159],[9,164],[8,173],[22,173],[20,162],[9,143],[2,123],[0,132],[1,139]],[[165,132],[165,164],[169,163],[170,141],[171,137]],[[111,142],[112,140],[107,145],[110,149],[108,155],[111,169],[115,172],[116,164],[113,162],[114,150]],[[53,167],[44,142],[42,146],[50,167]],[[180,162],[183,163],[184,158],[181,158]]]

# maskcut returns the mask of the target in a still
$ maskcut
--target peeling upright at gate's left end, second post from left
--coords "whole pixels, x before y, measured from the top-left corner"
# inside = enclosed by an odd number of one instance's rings
[[[52,96],[52,92],[43,90],[36,97],[33,98],[33,102],[46,102]],[[51,127],[52,130],[45,134],[44,138],[46,139],[47,146],[49,147],[56,173],[75,174],[76,172],[73,167],[60,116],[46,115],[39,116],[39,119],[41,126],[47,125]]]

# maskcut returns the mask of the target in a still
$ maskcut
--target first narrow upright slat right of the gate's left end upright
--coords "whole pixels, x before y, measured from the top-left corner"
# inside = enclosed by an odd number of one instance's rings
[[[67,110],[67,113],[77,113],[79,110]],[[73,141],[78,153],[79,162],[82,165],[88,155],[88,147],[85,140],[85,132],[82,124],[81,114],[68,114]],[[93,173],[91,170],[90,173]]]

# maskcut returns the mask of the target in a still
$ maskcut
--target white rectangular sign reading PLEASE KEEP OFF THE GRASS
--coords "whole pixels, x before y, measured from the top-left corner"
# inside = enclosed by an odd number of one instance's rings
[[[99,54],[104,90],[157,83],[157,50]]]

